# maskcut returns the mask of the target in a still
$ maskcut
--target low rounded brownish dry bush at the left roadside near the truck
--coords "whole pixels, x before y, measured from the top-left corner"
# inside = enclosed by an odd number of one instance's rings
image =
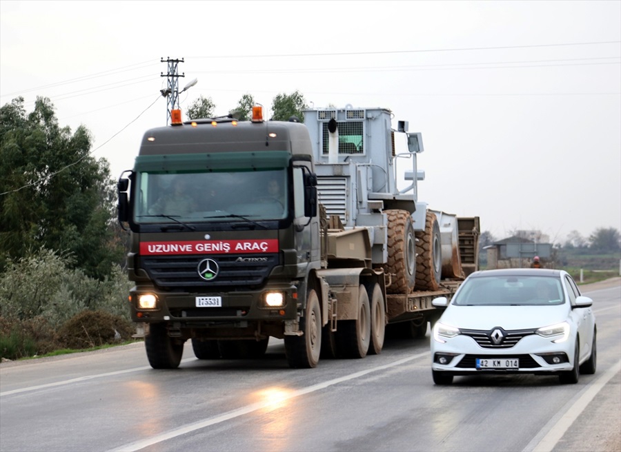
[[[132,322],[106,311],[82,311],[58,330],[59,342],[69,349],[88,349],[130,340]]]

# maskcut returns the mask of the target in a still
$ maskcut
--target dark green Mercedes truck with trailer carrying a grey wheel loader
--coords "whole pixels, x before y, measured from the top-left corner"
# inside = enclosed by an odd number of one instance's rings
[[[118,209],[150,365],[178,367],[186,340],[199,359],[259,358],[271,336],[310,368],[380,353],[387,325],[424,336],[431,300],[477,268],[480,227],[417,200],[422,151],[381,108],[148,130]]]

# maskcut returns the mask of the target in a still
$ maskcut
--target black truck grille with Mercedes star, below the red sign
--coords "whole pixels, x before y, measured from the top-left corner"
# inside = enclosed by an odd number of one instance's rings
[[[244,254],[243,262],[237,261],[239,255],[221,256],[145,256],[141,258],[141,267],[146,270],[151,280],[159,287],[217,287],[224,289],[246,289],[264,283],[273,267],[279,264],[277,254]],[[198,274],[201,260],[210,258],[216,261],[219,272],[213,280],[203,280]],[[252,262],[253,258],[264,258]]]

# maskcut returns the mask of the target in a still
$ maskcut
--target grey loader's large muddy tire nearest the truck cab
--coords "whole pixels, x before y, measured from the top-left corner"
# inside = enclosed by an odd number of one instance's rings
[[[388,294],[409,294],[416,282],[416,238],[407,210],[386,210],[388,215],[388,262],[386,273],[392,283]]]

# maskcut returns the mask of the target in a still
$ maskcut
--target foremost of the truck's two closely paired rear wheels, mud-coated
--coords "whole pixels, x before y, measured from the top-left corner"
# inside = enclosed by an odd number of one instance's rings
[[[358,289],[357,320],[342,320],[337,329],[337,347],[344,358],[364,358],[371,342],[371,309],[363,285]]]

